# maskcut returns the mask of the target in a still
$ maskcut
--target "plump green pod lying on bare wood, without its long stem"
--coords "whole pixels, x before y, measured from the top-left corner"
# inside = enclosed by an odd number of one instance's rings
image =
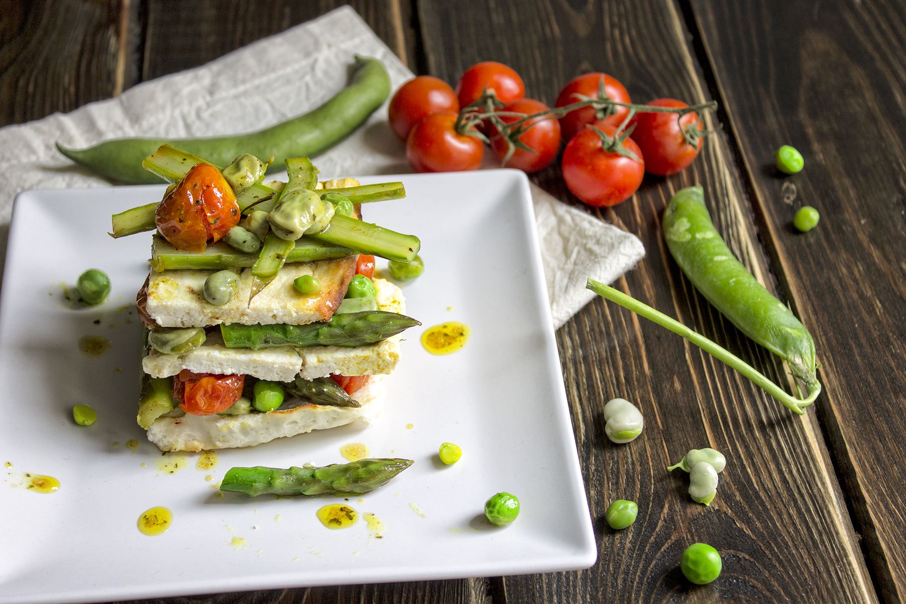
[[[681,189],[664,211],[664,238],[679,268],[739,331],[789,363],[811,392],[814,340],[805,326],[758,283],[720,238],[701,187]]]

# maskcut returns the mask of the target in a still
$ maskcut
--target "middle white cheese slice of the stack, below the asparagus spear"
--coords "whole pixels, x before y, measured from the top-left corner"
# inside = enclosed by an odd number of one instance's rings
[[[284,268],[285,270],[285,268]],[[375,279],[378,308],[387,312],[406,312],[402,291],[384,279]],[[142,369],[153,378],[167,378],[189,369],[195,373],[232,373],[258,379],[292,381],[297,375],[304,379],[323,378],[332,373],[343,376],[388,374],[400,360],[402,334],[375,344],[344,348],[313,346],[296,349],[292,346],[250,350],[227,349],[218,332],[187,354],[161,354],[151,350],[142,360]]]

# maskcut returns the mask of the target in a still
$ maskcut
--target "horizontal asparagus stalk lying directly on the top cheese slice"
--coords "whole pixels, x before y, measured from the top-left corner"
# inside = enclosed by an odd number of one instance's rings
[[[287,263],[315,262],[333,260],[356,254],[348,247],[320,244],[303,237],[286,254]],[[244,254],[223,242],[208,245],[204,252],[183,252],[173,247],[160,235],[154,235],[151,244],[151,269],[161,271],[219,271],[226,268],[246,268],[252,266],[258,254]]]

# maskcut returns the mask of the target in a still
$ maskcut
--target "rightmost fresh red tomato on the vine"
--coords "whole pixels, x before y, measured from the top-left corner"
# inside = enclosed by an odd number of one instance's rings
[[[658,99],[649,105],[655,107],[689,107],[676,99]],[[686,168],[699,156],[705,128],[699,121],[698,113],[687,113],[677,123],[675,113],[639,113],[635,116],[635,129],[630,135],[645,156],[645,171],[660,177],[668,177]],[[695,140],[689,145],[683,130]]]

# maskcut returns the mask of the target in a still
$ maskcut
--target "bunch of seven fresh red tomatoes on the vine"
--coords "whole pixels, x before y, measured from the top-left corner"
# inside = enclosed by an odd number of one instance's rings
[[[496,110],[502,113],[499,118],[504,123],[521,119],[506,113],[531,115],[550,110],[541,101],[526,99],[522,78],[499,62],[479,62],[470,67],[456,91],[431,76],[407,81],[390,100],[390,127],[406,141],[406,157],[412,168],[419,172],[479,168],[484,142],[475,131],[458,132],[457,118],[459,110],[477,101],[486,89],[493,89],[497,100],[504,103],[503,108]],[[594,72],[567,83],[557,96],[555,107],[597,99],[601,89],[612,101],[631,103],[629,92],[620,81]],[[688,107],[673,99],[648,104]],[[669,176],[689,166],[699,155],[699,133],[703,134],[704,129],[696,113],[687,113],[677,120],[675,113],[638,112],[618,135],[628,113],[626,107],[613,106],[606,115],[599,116],[593,107],[583,107],[569,111],[559,120],[529,120],[523,125],[518,137],[520,145],[506,160],[506,167],[525,172],[546,168],[557,156],[561,139],[566,139],[561,160],[566,186],[586,204],[614,206],[635,193],[646,171]],[[481,122],[477,129],[491,140],[496,157],[505,159],[510,146],[490,120]],[[626,137],[629,129],[631,136]]]

